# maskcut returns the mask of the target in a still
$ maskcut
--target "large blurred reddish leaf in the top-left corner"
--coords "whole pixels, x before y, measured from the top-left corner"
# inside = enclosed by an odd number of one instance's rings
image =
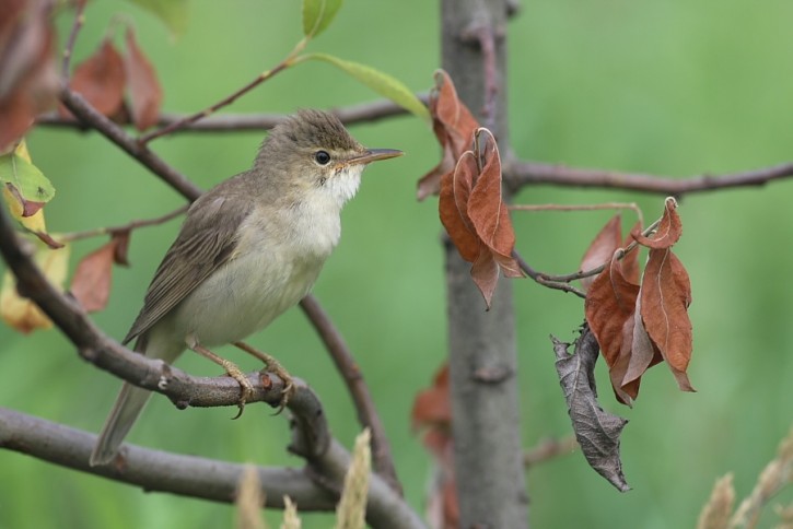
[[[0,9],[0,153],[55,104],[58,78],[53,56],[51,3],[4,0]]]

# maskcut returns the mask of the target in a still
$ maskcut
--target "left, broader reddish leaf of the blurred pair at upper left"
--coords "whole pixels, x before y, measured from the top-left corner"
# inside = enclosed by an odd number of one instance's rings
[[[69,85],[96,110],[113,116],[121,109],[125,82],[124,59],[105,38],[100,49],[77,67]],[[69,111],[61,107],[61,114]]]

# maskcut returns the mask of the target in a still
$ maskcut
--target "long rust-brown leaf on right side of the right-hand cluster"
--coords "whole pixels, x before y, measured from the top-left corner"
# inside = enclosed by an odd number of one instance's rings
[[[688,318],[691,284],[672,249],[650,250],[641,290],[641,316],[650,339],[669,364],[680,389],[693,391],[686,375],[692,350]]]

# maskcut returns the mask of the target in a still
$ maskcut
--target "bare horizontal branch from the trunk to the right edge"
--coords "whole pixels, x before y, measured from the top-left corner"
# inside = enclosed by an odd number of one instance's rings
[[[790,177],[793,177],[793,163],[721,176],[701,175],[690,178],[583,169],[534,162],[516,162],[504,168],[504,180],[515,189],[523,186],[548,184],[565,187],[623,189],[675,197],[732,187],[761,186]]]

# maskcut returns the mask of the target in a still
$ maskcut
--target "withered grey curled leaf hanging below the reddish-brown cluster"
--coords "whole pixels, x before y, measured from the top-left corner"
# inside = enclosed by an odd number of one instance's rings
[[[581,451],[598,474],[620,492],[630,491],[619,459],[619,435],[628,420],[604,411],[597,403],[594,372],[599,351],[595,336],[584,325],[581,336],[575,340],[573,354],[568,353],[569,343],[552,336],[550,339],[557,357],[559,384],[568,402],[568,413]]]

